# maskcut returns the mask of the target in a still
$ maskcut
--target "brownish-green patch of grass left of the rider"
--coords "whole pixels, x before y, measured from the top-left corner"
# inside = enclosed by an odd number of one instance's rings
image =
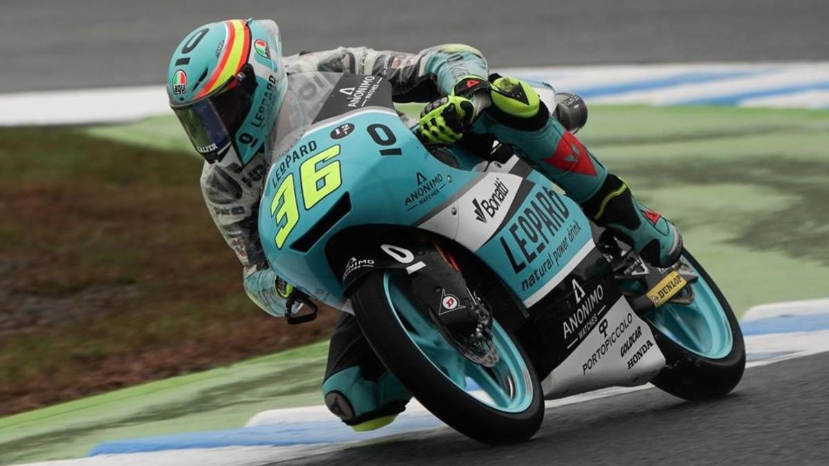
[[[0,414],[327,337],[255,308],[182,153],[0,131]]]

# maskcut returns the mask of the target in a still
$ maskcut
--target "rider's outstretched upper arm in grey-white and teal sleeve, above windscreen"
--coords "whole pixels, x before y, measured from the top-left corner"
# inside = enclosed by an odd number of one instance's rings
[[[285,57],[288,73],[335,71],[381,75],[394,87],[396,102],[425,102],[449,95],[469,75],[486,78],[487,61],[478,49],[462,44],[429,47],[419,53],[339,47]]]

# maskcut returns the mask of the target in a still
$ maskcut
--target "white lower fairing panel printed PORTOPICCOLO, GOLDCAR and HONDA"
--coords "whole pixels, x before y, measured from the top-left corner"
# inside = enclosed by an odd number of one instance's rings
[[[579,347],[541,381],[541,388],[552,400],[607,386],[642,385],[664,366],[651,328],[620,298]]]

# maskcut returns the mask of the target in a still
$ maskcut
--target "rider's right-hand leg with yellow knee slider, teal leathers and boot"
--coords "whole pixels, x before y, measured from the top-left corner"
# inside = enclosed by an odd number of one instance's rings
[[[638,250],[653,265],[671,265],[682,240],[676,227],[638,202],[628,186],[609,173],[593,153],[550,116],[530,85],[498,77],[493,86],[516,97],[492,93],[492,106],[474,131],[491,133],[536,170],[562,187],[584,212]]]

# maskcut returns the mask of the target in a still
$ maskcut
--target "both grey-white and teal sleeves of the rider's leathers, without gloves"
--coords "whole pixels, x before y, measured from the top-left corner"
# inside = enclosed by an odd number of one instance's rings
[[[331,71],[385,76],[392,85],[395,102],[433,100],[451,93],[463,76],[487,75],[487,62],[481,52],[460,44],[434,46],[417,54],[339,47],[286,56],[283,63],[288,75]],[[267,172],[263,153],[244,167],[231,158],[205,163],[201,191],[213,221],[242,263],[248,296],[265,312],[283,316],[292,287],[270,269],[257,230],[259,197]]]

